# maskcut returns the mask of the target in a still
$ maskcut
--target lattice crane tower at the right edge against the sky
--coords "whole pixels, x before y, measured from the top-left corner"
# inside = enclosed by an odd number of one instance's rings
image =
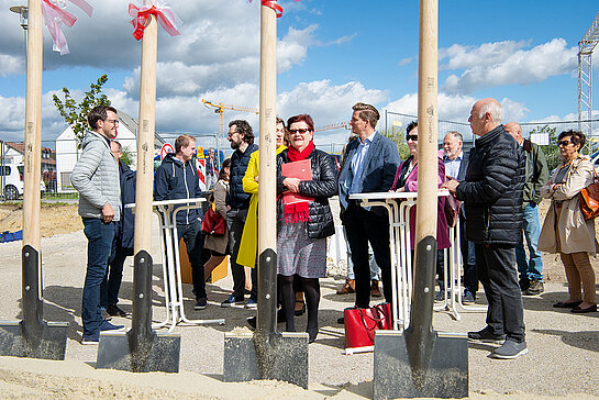
[[[583,40],[578,42],[578,129],[592,137],[592,51],[599,43],[599,14],[595,18]]]

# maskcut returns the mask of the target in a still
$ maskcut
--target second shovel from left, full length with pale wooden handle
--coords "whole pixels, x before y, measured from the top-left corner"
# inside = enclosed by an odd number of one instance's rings
[[[148,5],[152,1],[145,0]],[[140,131],[135,187],[135,257],[133,264],[133,315],[127,333],[102,333],[97,368],[134,373],[179,371],[180,336],[152,331],[152,182],[156,105],[157,22],[148,15],[142,40],[140,78]]]

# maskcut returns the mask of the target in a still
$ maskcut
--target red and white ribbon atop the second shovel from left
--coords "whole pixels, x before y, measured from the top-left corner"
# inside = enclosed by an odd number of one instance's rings
[[[182,21],[175,14],[173,9],[160,0],[151,1],[151,4],[137,7],[134,3],[129,3],[129,14],[133,16],[131,24],[135,27],[133,37],[137,41],[144,37],[144,30],[149,23],[149,15],[156,15],[156,19],[170,36],[180,35],[177,30]]]

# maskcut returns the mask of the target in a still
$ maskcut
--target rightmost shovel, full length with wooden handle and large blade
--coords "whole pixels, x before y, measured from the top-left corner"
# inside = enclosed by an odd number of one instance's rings
[[[437,209],[437,1],[420,0],[418,209],[410,326],[376,331],[374,398],[468,396],[468,338],[433,331]],[[410,268],[411,266],[404,266]]]

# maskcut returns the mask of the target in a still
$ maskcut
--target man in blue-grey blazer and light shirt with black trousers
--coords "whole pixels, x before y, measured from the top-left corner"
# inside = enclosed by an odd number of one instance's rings
[[[345,148],[339,176],[339,198],[341,221],[345,225],[354,263],[355,304],[365,309],[370,303],[368,243],[380,267],[385,299],[391,302],[389,218],[384,208],[363,208],[359,201],[350,200],[350,195],[388,191],[400,159],[396,144],[376,131],[380,118],[377,109],[370,104],[356,103],[353,110],[350,125],[359,140],[353,141]]]

